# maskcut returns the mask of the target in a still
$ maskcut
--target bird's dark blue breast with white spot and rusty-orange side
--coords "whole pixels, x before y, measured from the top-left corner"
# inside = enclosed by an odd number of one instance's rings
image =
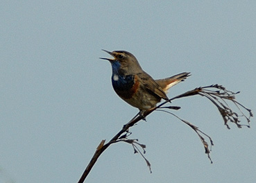
[[[121,98],[132,98],[139,88],[138,76],[121,76],[118,73],[112,75],[112,86]]]

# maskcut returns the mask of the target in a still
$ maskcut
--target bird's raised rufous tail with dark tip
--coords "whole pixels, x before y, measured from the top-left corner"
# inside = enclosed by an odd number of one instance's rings
[[[179,82],[185,80],[187,77],[191,76],[190,73],[183,72],[178,73],[175,76],[171,76],[170,78],[164,78],[160,80],[155,80],[160,87],[167,93],[167,90],[174,85],[177,85]]]

